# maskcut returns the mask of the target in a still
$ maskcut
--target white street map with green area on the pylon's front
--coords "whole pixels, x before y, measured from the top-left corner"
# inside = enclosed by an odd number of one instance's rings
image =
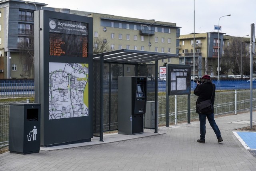
[[[86,84],[88,65],[50,62],[49,119],[88,116]]]

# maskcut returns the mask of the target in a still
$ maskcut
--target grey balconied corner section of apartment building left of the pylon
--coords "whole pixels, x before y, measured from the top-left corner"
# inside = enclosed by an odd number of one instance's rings
[[[34,10],[45,5],[0,0],[0,78],[34,78]]]

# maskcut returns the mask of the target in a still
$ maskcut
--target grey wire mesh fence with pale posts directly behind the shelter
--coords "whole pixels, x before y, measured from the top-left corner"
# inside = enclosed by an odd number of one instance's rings
[[[236,97],[235,97],[236,96]],[[256,90],[253,91],[253,110],[256,109]],[[177,113],[175,115],[175,98],[177,101]],[[193,93],[190,95],[190,119],[198,119],[196,113],[197,96]],[[236,99],[236,101],[235,101]],[[154,96],[148,96],[148,101],[154,101]],[[108,113],[109,106],[111,111],[117,111],[117,98],[112,97],[111,104],[108,104],[108,97],[104,98],[104,113]],[[26,101],[5,101],[0,102],[0,151],[8,148],[9,139],[9,104],[25,103]],[[169,125],[186,122],[188,119],[188,95],[169,96]],[[250,110],[250,90],[241,91],[216,91],[214,114],[220,115],[225,113],[234,113]],[[115,112],[113,112],[115,113]],[[175,118],[176,116],[176,118]],[[117,114],[105,117],[104,130],[117,129]],[[166,95],[158,95],[158,125],[166,125]]]

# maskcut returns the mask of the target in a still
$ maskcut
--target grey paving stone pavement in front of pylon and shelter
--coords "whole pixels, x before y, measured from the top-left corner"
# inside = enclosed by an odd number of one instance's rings
[[[194,121],[159,127],[160,134],[153,133],[155,136],[133,139],[133,135],[126,135],[125,141],[108,142],[104,135],[108,143],[42,148],[39,153],[27,155],[6,152],[0,154],[0,171],[255,171],[255,155],[232,133],[233,129],[248,126],[248,122],[239,121],[250,121],[250,113],[216,118],[221,143],[208,123],[206,143],[197,143],[199,121]]]

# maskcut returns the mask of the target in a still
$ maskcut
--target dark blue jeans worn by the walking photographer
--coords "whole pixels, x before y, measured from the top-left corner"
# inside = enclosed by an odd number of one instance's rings
[[[218,128],[218,125],[216,124],[215,120],[214,120],[214,114],[210,114],[210,115],[203,115],[203,114],[199,114],[199,121],[200,121],[200,139],[205,139],[205,134],[206,134],[206,117],[214,131],[214,133],[216,134],[217,138],[221,137],[220,135],[220,129]]]

